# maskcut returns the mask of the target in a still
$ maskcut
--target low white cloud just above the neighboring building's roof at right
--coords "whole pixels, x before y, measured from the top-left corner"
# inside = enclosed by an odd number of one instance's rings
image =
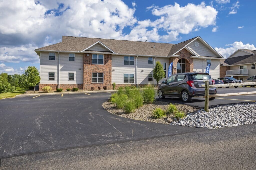
[[[228,57],[230,56],[232,53],[234,53],[235,51],[237,51],[237,49],[241,48],[241,49],[250,49],[250,50],[256,50],[255,46],[253,44],[243,44],[241,41],[236,41],[232,44],[227,44],[225,46],[230,46],[227,48],[217,48],[215,47],[214,49],[216,51],[218,51],[223,57]]]

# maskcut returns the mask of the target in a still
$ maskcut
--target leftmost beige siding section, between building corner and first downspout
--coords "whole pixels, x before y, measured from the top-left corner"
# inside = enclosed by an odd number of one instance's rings
[[[48,72],[55,72],[55,80],[48,80]],[[48,52],[40,52],[40,83],[58,83],[58,53],[55,53],[55,60],[49,60]]]

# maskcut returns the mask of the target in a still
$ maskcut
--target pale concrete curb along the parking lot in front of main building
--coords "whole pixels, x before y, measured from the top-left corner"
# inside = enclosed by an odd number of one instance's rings
[[[157,88],[154,88],[157,89]],[[28,97],[38,95],[60,95],[60,94],[81,94],[81,93],[100,93],[100,92],[115,92],[118,90],[97,90],[97,91],[78,91],[78,92],[55,92],[55,93],[35,93],[35,94],[19,94],[15,97]]]

